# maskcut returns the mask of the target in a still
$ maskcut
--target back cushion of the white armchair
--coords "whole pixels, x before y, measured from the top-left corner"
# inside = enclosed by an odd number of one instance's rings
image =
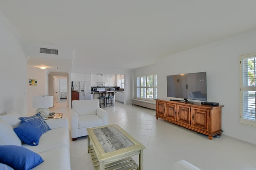
[[[99,100],[74,100],[72,101],[72,108],[78,115],[92,115],[96,114],[99,107]]]

